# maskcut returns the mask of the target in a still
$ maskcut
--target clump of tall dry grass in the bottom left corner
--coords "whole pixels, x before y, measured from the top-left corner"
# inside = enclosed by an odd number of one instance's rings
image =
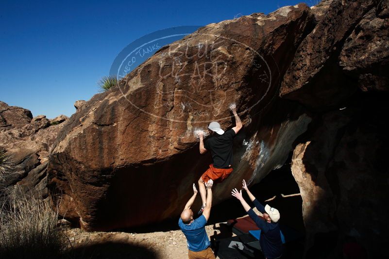
[[[57,258],[66,246],[57,213],[45,200],[23,196],[0,209],[0,258]]]

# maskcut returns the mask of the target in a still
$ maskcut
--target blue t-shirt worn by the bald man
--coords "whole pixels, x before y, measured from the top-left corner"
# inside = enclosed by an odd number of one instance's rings
[[[178,226],[186,236],[186,243],[190,251],[200,252],[208,248],[210,242],[205,232],[206,223],[204,215],[195,219],[191,224],[184,224],[181,218],[178,220]]]

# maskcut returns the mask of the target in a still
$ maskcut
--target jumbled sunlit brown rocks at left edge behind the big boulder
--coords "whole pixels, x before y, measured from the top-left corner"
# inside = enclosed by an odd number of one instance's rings
[[[0,196],[34,194],[47,197],[49,151],[63,125],[50,126],[45,115],[0,101],[0,148],[12,157],[12,168],[0,182]]]

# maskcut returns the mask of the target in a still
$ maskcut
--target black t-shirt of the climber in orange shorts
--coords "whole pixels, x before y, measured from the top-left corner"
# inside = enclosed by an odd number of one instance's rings
[[[228,168],[232,165],[232,140],[236,133],[229,129],[223,135],[214,133],[204,142],[204,148],[211,151],[213,166],[216,168]]]

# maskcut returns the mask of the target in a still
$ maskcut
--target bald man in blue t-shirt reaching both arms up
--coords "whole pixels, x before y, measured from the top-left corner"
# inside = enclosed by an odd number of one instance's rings
[[[205,225],[211,214],[213,181],[209,180],[205,185],[207,189],[207,206],[204,208],[203,215],[195,220],[193,219],[193,211],[190,207],[197,195],[196,186],[193,184],[193,195],[186,203],[178,220],[178,226],[186,237],[189,259],[215,259],[215,255],[210,247],[211,243],[205,231]]]

